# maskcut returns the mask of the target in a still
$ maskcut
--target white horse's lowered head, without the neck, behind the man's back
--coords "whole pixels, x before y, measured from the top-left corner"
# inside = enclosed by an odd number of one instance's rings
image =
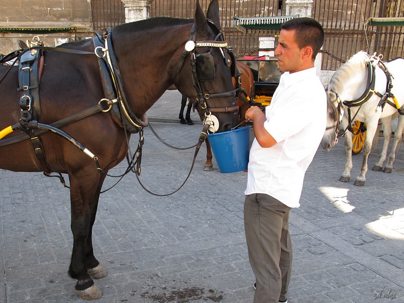
[[[343,116],[343,105],[338,94],[330,89],[327,92],[327,127],[325,129],[321,146],[329,151],[338,142],[339,123]]]

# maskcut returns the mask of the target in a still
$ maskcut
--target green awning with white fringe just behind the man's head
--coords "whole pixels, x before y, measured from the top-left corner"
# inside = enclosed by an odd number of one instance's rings
[[[277,16],[277,17],[254,17],[254,18],[241,18],[234,17],[233,25],[240,31],[246,32],[249,30],[280,30],[282,23],[299,15]]]

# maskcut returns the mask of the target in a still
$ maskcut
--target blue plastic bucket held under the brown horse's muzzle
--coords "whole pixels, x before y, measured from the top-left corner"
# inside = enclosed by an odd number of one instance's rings
[[[208,134],[213,155],[221,173],[247,169],[249,156],[249,126],[216,134]]]

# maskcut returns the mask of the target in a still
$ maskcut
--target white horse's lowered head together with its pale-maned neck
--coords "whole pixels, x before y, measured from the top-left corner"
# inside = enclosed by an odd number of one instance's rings
[[[321,146],[329,151],[338,142],[339,123],[344,115],[344,100],[355,100],[366,88],[369,55],[359,52],[341,65],[327,86],[327,127]]]

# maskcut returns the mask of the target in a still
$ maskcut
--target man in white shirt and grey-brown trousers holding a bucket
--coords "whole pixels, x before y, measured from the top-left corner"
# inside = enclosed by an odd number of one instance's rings
[[[299,207],[304,176],[326,128],[327,99],[314,60],[324,43],[321,25],[296,18],[282,25],[275,56],[284,72],[254,124],[244,201],[248,256],[256,276],[254,303],[287,302],[292,265],[289,211]]]

